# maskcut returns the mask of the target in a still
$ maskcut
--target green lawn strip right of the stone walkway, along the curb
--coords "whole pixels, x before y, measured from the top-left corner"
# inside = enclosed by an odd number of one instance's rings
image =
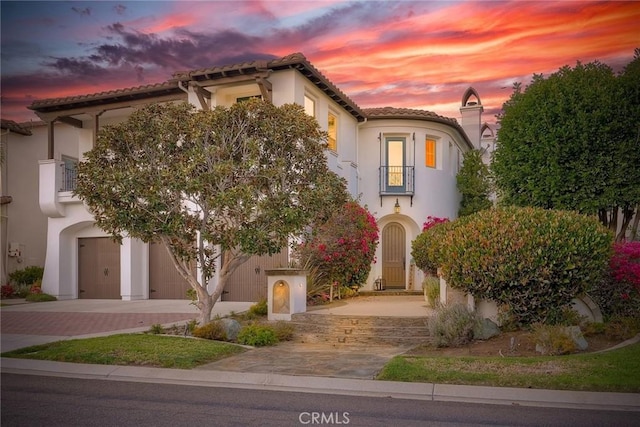
[[[640,392],[640,343],[599,354],[550,357],[396,356],[379,380]]]

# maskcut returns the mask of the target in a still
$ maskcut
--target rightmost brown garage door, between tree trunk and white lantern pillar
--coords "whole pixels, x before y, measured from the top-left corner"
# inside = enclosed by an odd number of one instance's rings
[[[256,302],[267,298],[265,270],[288,265],[287,248],[274,255],[254,255],[231,275],[222,293],[222,301]]]

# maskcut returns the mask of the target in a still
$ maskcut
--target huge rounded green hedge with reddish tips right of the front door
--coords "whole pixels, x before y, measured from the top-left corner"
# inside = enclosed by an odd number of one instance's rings
[[[547,323],[603,277],[613,236],[574,212],[497,208],[444,235],[442,274],[476,298],[507,305],[519,323]]]

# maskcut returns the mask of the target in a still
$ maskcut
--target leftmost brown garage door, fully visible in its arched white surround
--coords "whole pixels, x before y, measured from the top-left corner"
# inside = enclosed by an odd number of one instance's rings
[[[109,237],[78,239],[78,298],[121,298],[120,245]]]

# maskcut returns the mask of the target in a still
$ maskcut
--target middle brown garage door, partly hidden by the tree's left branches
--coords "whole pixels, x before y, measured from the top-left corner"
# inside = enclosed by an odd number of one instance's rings
[[[194,270],[195,271],[195,270]],[[162,243],[149,244],[149,298],[188,299],[191,286],[180,276]]]

